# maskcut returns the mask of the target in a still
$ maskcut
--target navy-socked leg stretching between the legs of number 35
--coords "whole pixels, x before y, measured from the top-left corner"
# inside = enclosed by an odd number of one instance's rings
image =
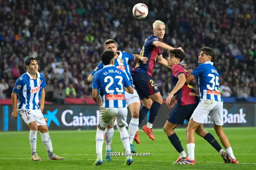
[[[204,126],[202,124],[200,124],[196,131],[197,135],[201,136],[202,138],[204,138],[208,143],[210,143],[210,145],[212,145],[213,148],[215,148],[215,150],[218,151],[218,153],[220,154],[221,158],[224,160],[224,163],[231,163],[230,162],[230,158],[228,156],[228,154],[225,152],[225,150],[223,150],[220,146],[220,144],[218,143],[218,141],[214,138],[214,136],[207,132],[204,128]]]

